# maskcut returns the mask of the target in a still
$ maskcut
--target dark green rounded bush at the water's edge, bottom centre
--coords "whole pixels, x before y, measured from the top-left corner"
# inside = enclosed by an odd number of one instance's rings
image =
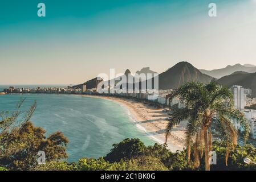
[[[139,139],[124,139],[120,143],[113,144],[111,152],[105,156],[109,162],[119,162],[121,159],[131,159],[134,156],[143,154],[145,145]]]

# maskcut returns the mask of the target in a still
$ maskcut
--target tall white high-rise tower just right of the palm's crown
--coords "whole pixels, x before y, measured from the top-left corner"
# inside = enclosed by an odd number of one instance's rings
[[[232,86],[235,109],[245,109],[245,89],[242,86]]]

